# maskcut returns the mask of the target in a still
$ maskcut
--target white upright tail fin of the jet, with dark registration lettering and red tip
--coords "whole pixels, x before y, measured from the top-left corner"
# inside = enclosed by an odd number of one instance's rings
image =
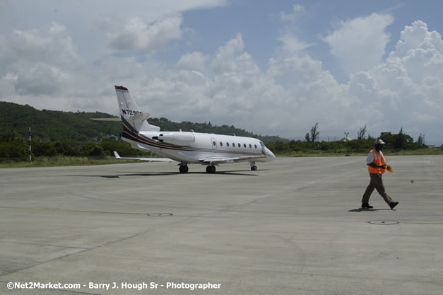
[[[136,101],[132,98],[128,88],[115,86],[117,101],[119,103],[120,117],[122,118],[123,129],[125,127],[133,132],[160,131],[160,127],[150,125],[146,119],[149,114],[142,112]]]

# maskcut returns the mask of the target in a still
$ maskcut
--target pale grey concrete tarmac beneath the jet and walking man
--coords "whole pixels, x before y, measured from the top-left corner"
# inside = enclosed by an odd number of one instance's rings
[[[441,295],[443,156],[386,159],[0,169],[0,294]]]

